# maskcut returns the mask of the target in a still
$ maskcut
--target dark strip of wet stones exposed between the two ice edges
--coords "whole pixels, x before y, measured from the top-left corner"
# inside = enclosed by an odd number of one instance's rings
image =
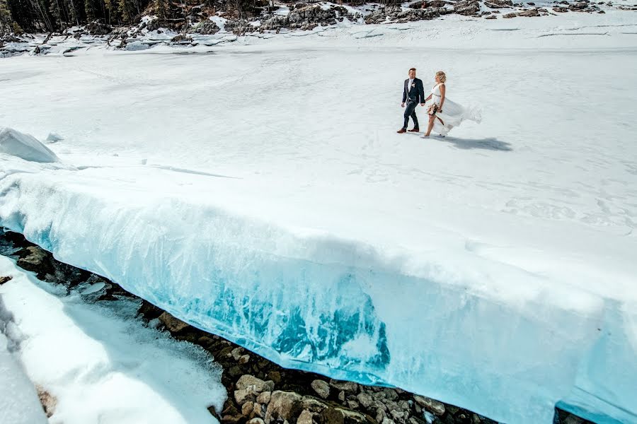
[[[196,329],[149,302],[136,298],[116,283],[57,261],[50,252],[16,232],[0,230],[0,254],[16,259],[42,281],[63,285],[99,283],[90,302],[117,298],[139,301],[139,317],[146,325],[169,331],[179,340],[202,346],[223,367],[222,384],[228,399],[222,411],[210,413],[223,424],[491,424],[495,421],[471,411],[398,388],[370,387],[355,382],[282,368],[224,338]],[[11,277],[0,276],[0,284]],[[556,424],[585,424],[556,411]]]

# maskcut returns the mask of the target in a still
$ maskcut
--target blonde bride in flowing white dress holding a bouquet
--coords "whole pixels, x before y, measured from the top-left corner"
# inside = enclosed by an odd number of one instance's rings
[[[447,81],[447,75],[442,71],[436,72],[436,85],[431,89],[431,94],[425,100],[427,105],[427,114],[429,114],[429,125],[427,132],[423,135],[423,139],[429,138],[432,129],[435,129],[441,136],[446,136],[450,129],[459,126],[462,121],[480,122],[482,117],[480,111],[467,109],[452,100],[447,99],[447,87],[444,82]]]

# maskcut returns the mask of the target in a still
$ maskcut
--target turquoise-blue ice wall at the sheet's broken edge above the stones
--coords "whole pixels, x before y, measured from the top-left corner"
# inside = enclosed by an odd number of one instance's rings
[[[469,259],[467,269],[482,271],[464,272],[421,258],[416,269],[413,257],[142,195],[141,174],[91,187],[99,172],[6,177],[1,223],[285,367],[391,384],[515,423],[551,422],[578,379],[605,405],[599,370],[613,399],[632,407],[637,372],[613,364],[634,355],[635,309],[503,264]],[[161,186],[174,178],[140,172]],[[607,348],[606,331],[624,350]]]

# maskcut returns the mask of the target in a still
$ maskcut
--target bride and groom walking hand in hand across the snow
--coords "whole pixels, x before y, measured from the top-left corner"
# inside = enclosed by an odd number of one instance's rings
[[[423,81],[415,77],[415,68],[409,69],[409,78],[405,80],[403,86],[403,102],[402,107],[405,109],[405,121],[403,127],[398,130],[398,134],[409,132],[418,132],[418,117],[415,114],[415,108],[420,106],[427,107],[429,122],[427,131],[423,134],[423,139],[429,138],[432,129],[441,136],[446,136],[454,126],[458,126],[465,119],[474,122],[480,122],[480,113],[476,110],[469,110],[452,100],[447,99],[447,75],[443,71],[437,71],[435,75],[436,85],[431,89],[429,97],[425,99],[425,88]],[[413,120],[413,129],[408,130],[407,124],[409,118]]]

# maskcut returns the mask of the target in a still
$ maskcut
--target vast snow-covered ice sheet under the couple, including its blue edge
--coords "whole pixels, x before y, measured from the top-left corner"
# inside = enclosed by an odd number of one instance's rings
[[[285,366],[635,422],[636,33],[451,16],[3,59],[0,125],[63,164],[0,155],[0,223]],[[396,134],[411,66],[482,124]]]

